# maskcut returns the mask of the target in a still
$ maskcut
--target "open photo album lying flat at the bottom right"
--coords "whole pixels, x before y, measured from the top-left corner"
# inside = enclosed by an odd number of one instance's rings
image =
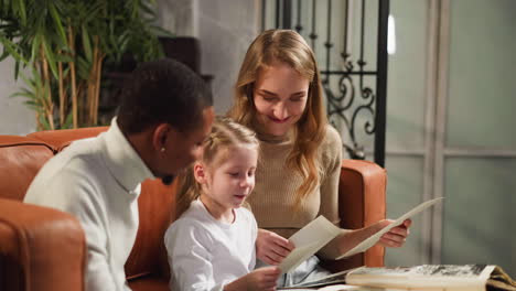
[[[514,291],[516,282],[494,265],[421,265],[361,267],[279,290]]]

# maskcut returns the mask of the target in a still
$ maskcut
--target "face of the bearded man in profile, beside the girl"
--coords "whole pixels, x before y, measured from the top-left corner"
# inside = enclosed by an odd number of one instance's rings
[[[159,176],[176,175],[201,157],[203,141],[212,131],[214,118],[213,107],[207,107],[203,110],[203,122],[196,129],[190,132],[172,130],[164,147],[166,154],[158,162],[162,169]]]

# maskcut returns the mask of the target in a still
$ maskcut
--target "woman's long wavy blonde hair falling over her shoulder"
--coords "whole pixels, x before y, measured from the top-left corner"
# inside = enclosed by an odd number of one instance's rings
[[[320,183],[320,165],[315,155],[319,144],[324,139],[327,123],[315,56],[299,33],[291,30],[268,30],[251,43],[238,74],[234,106],[229,109],[228,116],[245,126],[252,126],[256,116],[255,83],[260,71],[276,62],[288,64],[310,80],[307,108],[297,122],[295,141],[287,159],[287,165],[304,177],[304,182],[295,193],[298,197],[295,208],[298,208],[301,201]]]

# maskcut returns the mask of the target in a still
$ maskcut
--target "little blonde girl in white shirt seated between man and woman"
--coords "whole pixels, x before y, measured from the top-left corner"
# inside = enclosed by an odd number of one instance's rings
[[[251,130],[217,119],[201,160],[180,177],[181,216],[164,238],[172,290],[276,290],[277,267],[254,270],[257,224],[240,207],[255,186],[258,144]]]

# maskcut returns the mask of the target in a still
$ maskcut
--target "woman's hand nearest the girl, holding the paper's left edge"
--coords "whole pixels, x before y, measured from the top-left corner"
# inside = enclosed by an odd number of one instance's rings
[[[278,266],[294,249],[292,241],[266,229],[258,229],[256,257],[268,265]]]

